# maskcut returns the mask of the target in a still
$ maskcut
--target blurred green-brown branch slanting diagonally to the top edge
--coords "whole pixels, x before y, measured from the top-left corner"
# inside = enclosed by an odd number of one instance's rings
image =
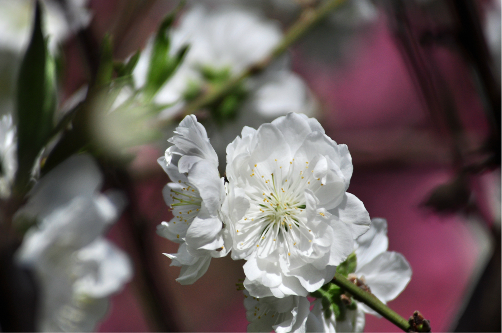
[[[274,48],[269,56],[248,67],[242,73],[230,79],[226,84],[218,89],[208,91],[204,95],[195,99],[193,102],[189,103],[183,110],[183,116],[192,114],[205,106],[217,102],[232,91],[236,86],[242,83],[244,79],[262,72],[275,58],[286,52],[291,45],[303,37],[305,33],[307,33],[313,26],[319,23],[319,21],[324,19],[332,10],[337,8],[343,2],[344,0],[330,0],[324,2],[316,9],[305,10],[298,21],[288,30],[281,43]]]

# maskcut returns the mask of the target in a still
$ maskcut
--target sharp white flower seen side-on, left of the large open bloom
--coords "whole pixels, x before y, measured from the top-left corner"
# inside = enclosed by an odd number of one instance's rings
[[[162,222],[157,233],[180,243],[178,253],[166,254],[171,265],[181,266],[181,284],[194,283],[207,270],[211,257],[225,256],[231,249],[228,229],[220,210],[225,198],[224,180],[218,174],[218,158],[204,126],[194,115],[186,116],[159,164],[173,183],[163,190],[174,218]]]

